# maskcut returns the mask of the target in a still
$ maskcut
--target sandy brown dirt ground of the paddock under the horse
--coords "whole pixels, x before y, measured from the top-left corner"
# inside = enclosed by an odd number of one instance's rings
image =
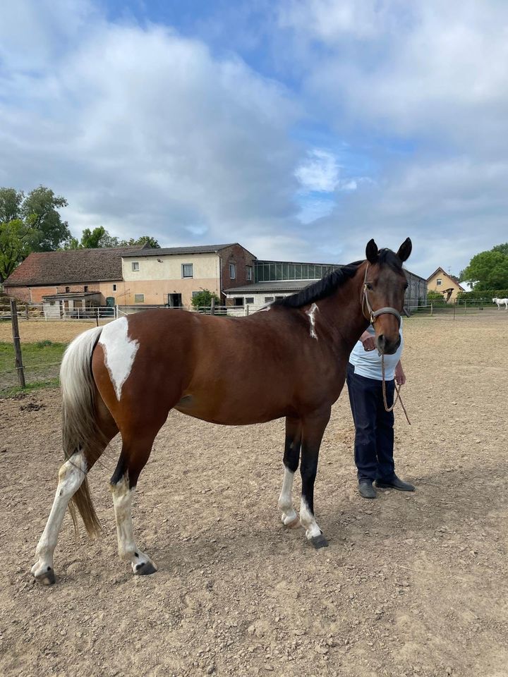
[[[406,322],[412,425],[398,410],[396,463],[415,494],[358,496],[341,396],[316,483],[319,551],[279,521],[282,420],[227,428],[171,413],[134,508],[158,573],[133,577],[116,554],[115,442],[90,475],[103,537],[75,537],[67,516],[57,584],[35,585],[59,393],[0,401],[0,674],[507,676],[507,322]]]

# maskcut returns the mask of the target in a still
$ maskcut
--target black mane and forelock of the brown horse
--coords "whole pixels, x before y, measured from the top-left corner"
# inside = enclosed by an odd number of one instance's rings
[[[349,263],[346,266],[341,266],[328,275],[325,275],[325,277],[318,280],[317,282],[313,282],[312,284],[304,287],[302,291],[298,291],[296,294],[291,294],[291,296],[284,296],[284,298],[277,298],[270,305],[283,305],[288,308],[300,308],[303,305],[315,303],[315,301],[326,298],[327,296],[332,295],[332,293],[334,293],[337,288],[346,283],[346,281],[351,279],[362,263],[363,261],[354,261],[353,263]],[[380,265],[387,265],[397,271],[402,269],[401,260],[397,254],[392,252],[391,249],[380,249],[376,263]]]

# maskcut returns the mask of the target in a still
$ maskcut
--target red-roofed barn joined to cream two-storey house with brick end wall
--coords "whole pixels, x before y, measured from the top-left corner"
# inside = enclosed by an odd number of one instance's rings
[[[30,254],[5,282],[6,294],[52,312],[87,305],[191,305],[193,295],[254,279],[255,256],[238,243],[150,249],[116,247]],[[83,294],[94,294],[85,303]],[[51,297],[51,298],[50,298]]]

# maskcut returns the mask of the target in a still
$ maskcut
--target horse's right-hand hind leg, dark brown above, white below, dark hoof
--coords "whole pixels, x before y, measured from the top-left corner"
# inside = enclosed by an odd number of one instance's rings
[[[157,571],[150,557],[140,551],[135,543],[132,504],[138,477],[148,461],[159,427],[157,426],[157,429],[147,437],[141,437],[133,431],[122,431],[122,450],[114,475],[111,477],[119,556],[124,561],[131,562],[133,573],[137,575]]]

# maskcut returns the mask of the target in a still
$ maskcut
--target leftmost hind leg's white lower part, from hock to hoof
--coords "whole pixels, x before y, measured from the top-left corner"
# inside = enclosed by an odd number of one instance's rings
[[[59,483],[56,487],[53,506],[49,513],[44,532],[42,532],[40,541],[35,549],[37,561],[32,566],[32,574],[36,578],[40,578],[44,585],[49,585],[49,583],[53,582],[51,578],[54,576],[54,573],[48,575],[48,572],[53,572],[53,554],[63,517],[65,516],[68,502],[85,479],[86,470],[86,460],[81,452],[73,454],[60,468]]]

